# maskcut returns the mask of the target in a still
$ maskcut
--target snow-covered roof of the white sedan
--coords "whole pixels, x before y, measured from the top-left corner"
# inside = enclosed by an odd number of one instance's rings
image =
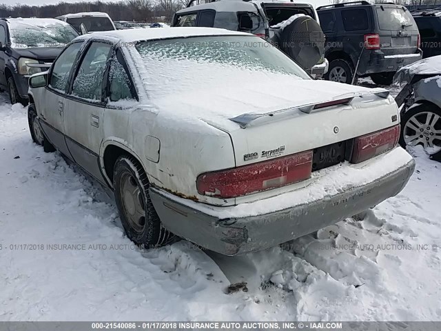
[[[93,34],[85,34],[77,39],[100,38],[112,41],[118,40],[123,43],[133,43],[141,40],[218,35],[252,36],[253,34],[216,28],[134,29],[94,32]]]

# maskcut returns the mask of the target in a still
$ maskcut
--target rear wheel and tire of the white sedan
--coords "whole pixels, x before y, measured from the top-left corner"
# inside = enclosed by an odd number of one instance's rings
[[[143,248],[157,248],[174,239],[154,210],[147,175],[134,157],[122,155],[116,160],[113,184],[119,217],[131,241]]]

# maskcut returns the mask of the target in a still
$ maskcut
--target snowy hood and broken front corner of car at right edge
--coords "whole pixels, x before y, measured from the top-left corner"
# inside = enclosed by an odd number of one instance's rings
[[[402,67],[393,78],[394,85],[403,86],[416,74],[441,74],[441,55],[429,57]]]

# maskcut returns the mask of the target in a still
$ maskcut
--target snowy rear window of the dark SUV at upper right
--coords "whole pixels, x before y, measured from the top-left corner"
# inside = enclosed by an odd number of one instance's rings
[[[377,7],[380,30],[415,30],[415,21],[409,10],[402,8]]]

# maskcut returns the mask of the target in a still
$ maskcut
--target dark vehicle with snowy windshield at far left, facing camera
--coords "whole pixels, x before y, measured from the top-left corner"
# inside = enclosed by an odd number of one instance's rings
[[[47,70],[78,33],[58,19],[0,19],[0,87],[28,103],[30,75]]]

